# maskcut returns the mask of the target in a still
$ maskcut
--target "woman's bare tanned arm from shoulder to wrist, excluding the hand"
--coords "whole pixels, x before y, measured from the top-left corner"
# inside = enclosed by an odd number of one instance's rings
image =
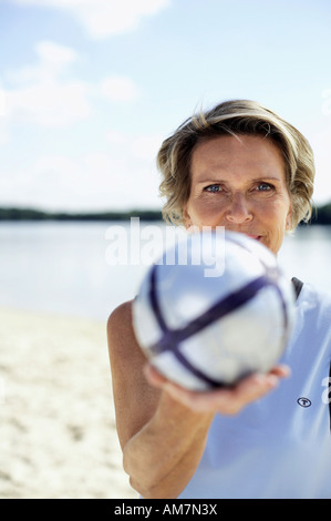
[[[124,469],[144,498],[176,498],[199,463],[214,415],[192,411],[147,382],[131,303],[112,313],[107,335]]]

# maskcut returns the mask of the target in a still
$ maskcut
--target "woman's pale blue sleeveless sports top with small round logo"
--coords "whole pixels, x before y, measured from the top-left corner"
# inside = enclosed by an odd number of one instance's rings
[[[330,295],[303,285],[281,361],[292,376],[275,391],[237,416],[215,417],[179,498],[331,499]]]

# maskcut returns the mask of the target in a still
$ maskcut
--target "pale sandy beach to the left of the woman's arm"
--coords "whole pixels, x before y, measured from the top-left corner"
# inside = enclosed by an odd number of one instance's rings
[[[0,309],[0,498],[132,499],[105,323]]]

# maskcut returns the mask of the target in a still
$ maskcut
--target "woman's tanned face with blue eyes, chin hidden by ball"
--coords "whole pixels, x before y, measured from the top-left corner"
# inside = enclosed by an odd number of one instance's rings
[[[225,226],[278,253],[290,227],[291,202],[281,153],[270,140],[226,135],[200,143],[190,175],[187,227]]]

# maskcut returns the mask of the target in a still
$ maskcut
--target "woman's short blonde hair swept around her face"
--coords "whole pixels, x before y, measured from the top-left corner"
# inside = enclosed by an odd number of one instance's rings
[[[183,212],[190,193],[190,161],[195,146],[219,135],[255,134],[271,140],[280,150],[292,204],[291,229],[312,213],[314,160],[307,139],[275,112],[249,100],[226,101],[200,111],[166,139],[157,154],[162,173],[161,195],[165,221],[183,224]]]

